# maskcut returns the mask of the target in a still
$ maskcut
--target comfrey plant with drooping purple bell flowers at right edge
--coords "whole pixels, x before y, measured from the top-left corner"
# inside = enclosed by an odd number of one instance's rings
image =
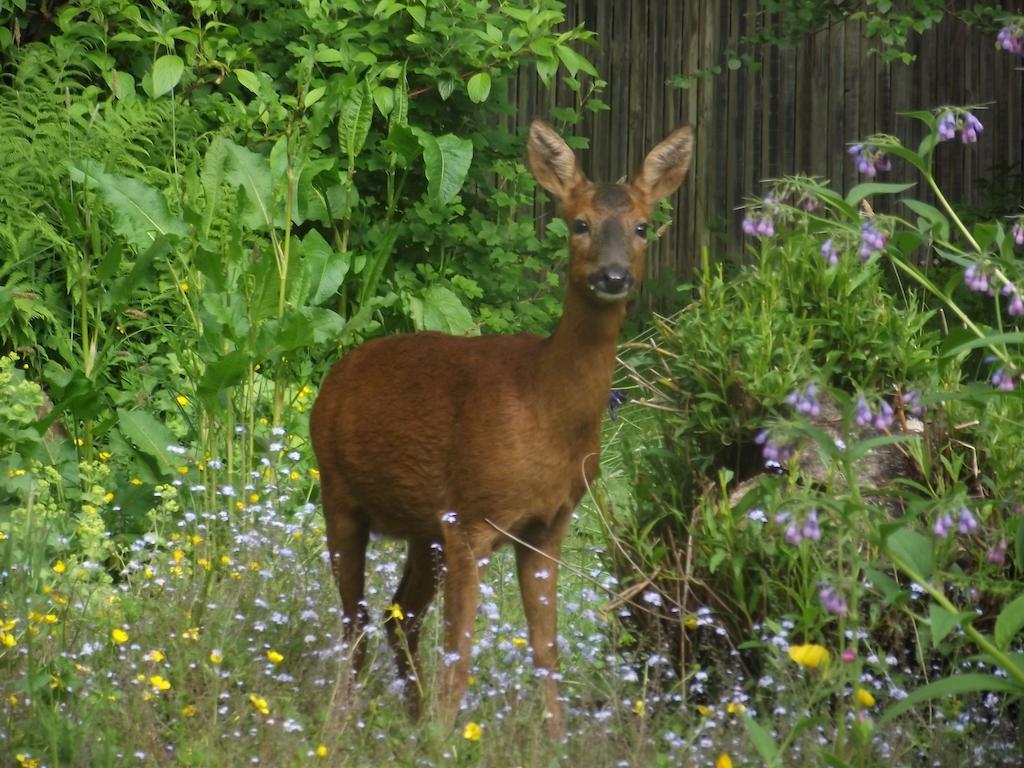
[[[1020,52],[1021,39],[1021,28],[1011,26],[999,37],[1014,53]],[[981,423],[993,411],[1014,424],[1024,418],[1017,391],[1024,369],[1019,325],[1024,316],[1019,266],[1024,209],[969,227],[932,173],[934,154],[944,142],[983,140],[977,112],[942,106],[910,113],[907,117],[929,129],[916,148],[890,135],[854,144],[850,154],[866,181],[845,197],[801,177],[777,182],[770,199],[748,208],[748,218],[771,221],[770,228],[762,225],[754,232],[762,242],[784,242],[792,232],[817,233],[826,273],[888,268],[901,284],[916,288],[918,301],[931,302],[955,326],[946,332],[946,362],[927,385],[911,388],[896,381],[887,392],[851,393],[828,386],[824,377],[825,384],[794,389],[779,410],[782,418],[762,425],[758,434],[765,464],[782,475],[761,485],[762,514],[775,523],[766,530],[780,551],[795,550],[802,563],[797,572],[804,574],[803,583],[794,587],[803,606],[797,631],[805,643],[813,637],[823,643],[791,645],[790,657],[804,668],[825,669],[835,646],[843,659],[818,684],[831,695],[846,691],[850,699],[851,716],[843,722],[851,731],[835,736],[836,754],[844,760],[869,754],[873,729],[915,705],[980,691],[1024,696],[1024,664],[1012,652],[1019,649],[1024,629],[1024,593],[1004,570],[1008,540],[1017,542],[1018,567],[1024,558],[1019,515],[1024,467],[1004,457],[1006,449],[980,430],[974,440],[984,456],[974,467],[970,461],[976,459],[962,456],[967,437],[942,437],[943,424],[970,423],[959,418],[968,414],[981,415]],[[902,198],[911,220],[876,213],[867,203],[871,196],[902,195],[914,185],[883,180],[883,174],[906,172],[920,174],[935,204]],[[779,184],[785,194],[779,194]],[[794,204],[804,198],[817,205]],[[953,267],[945,286],[936,282],[931,267],[921,266],[936,262]],[[825,401],[831,404],[826,408]],[[839,416],[826,425],[829,411]],[[970,427],[949,429],[967,435],[963,430]],[[1019,439],[1008,439],[1014,446],[1010,453],[1016,453]],[[882,452],[904,464],[888,484],[878,485],[865,466]],[[982,592],[994,624],[979,622]],[[992,600],[1001,607],[993,611]],[[944,667],[933,682],[883,701],[888,709],[876,720],[868,715],[876,698],[865,683],[863,648],[873,642],[869,616],[892,605],[911,606],[923,642],[947,658],[978,654],[980,663],[961,672],[955,665]]]

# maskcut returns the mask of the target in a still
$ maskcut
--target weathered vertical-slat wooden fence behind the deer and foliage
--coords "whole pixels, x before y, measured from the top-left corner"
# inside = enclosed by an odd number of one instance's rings
[[[870,54],[873,43],[861,23],[835,24],[794,48],[749,50],[761,58],[759,71],[729,70],[724,52],[755,27],[752,0],[568,0],[566,6],[566,27],[584,24],[596,33],[597,46],[585,52],[607,81],[601,98],[610,110],[585,114],[577,128],[591,139],[583,156],[589,175],[617,178],[675,126],[695,127],[690,175],[672,201],[675,224],[651,249],[648,280],[688,279],[703,247],[715,259],[741,260],[736,208],[763,189],[764,179],[801,172],[845,190],[858,180],[847,154],[851,142],[884,131],[916,145],[922,129],[897,116],[903,111],[984,104],[982,139],[941,145],[937,175],[953,201],[979,202],[975,180],[987,177],[1013,180],[1024,203],[1024,59],[996,50],[991,32],[947,16],[910,42],[916,59],[903,65]],[[1020,12],[1024,1],[1006,7]],[[689,88],[671,82],[715,65],[721,75],[695,79]],[[519,125],[571,108],[575,98],[564,84],[545,88],[530,73],[512,95]],[[902,168],[890,176],[912,178]]]

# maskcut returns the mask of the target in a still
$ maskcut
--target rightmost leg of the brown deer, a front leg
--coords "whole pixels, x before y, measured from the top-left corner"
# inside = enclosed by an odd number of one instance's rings
[[[565,516],[566,519],[568,516]],[[515,545],[516,571],[523,612],[534,651],[534,666],[541,674],[547,708],[548,733],[560,737],[564,730],[558,700],[558,562],[565,525],[536,532],[527,542]],[[555,558],[555,559],[552,559]]]

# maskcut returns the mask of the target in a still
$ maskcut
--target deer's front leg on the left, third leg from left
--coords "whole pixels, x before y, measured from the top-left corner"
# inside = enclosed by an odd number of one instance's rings
[[[469,680],[473,647],[473,623],[480,590],[477,558],[468,537],[455,525],[444,531],[444,658],[440,719],[446,727],[455,724],[459,705]]]

